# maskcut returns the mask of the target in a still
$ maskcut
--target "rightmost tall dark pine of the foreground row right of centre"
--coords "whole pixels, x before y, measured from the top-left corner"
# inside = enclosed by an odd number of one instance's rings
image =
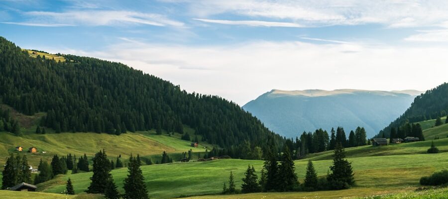
[[[332,173],[327,176],[329,184],[335,190],[348,189],[354,184],[351,163],[344,158],[344,148],[336,144],[333,165],[330,167]]]

